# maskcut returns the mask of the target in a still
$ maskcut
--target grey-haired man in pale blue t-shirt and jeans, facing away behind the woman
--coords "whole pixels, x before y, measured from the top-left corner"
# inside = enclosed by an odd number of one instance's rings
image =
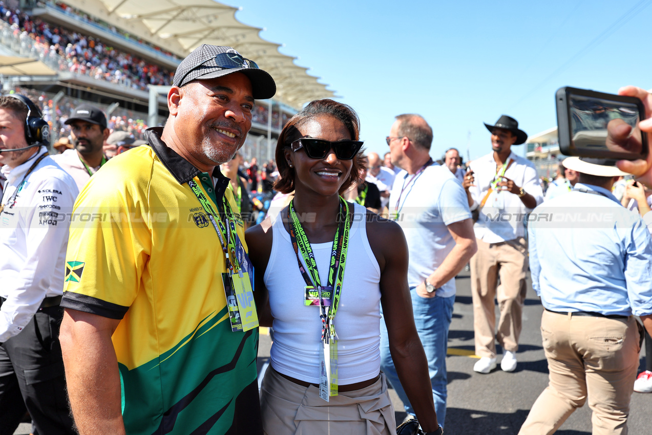
[[[414,320],[428,358],[437,418],[443,422],[455,275],[477,249],[473,221],[462,186],[447,167],[434,163],[428,154],[432,128],[426,120],[419,115],[399,115],[387,137],[387,145],[393,163],[405,169],[394,181],[389,215],[396,219],[408,242],[408,284]],[[415,415],[414,404],[396,376],[387,337],[387,328],[381,327],[381,369],[403,401],[406,412]]]

